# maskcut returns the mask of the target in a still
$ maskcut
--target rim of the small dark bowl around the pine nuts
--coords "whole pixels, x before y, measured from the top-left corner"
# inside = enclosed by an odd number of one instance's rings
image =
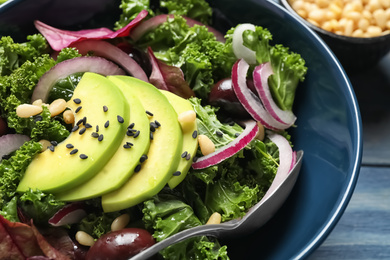
[[[324,34],[328,37],[338,39],[340,41],[346,41],[354,44],[371,44],[375,42],[382,42],[382,41],[390,41],[390,33],[381,35],[381,36],[375,36],[375,37],[351,37],[346,35],[340,35],[336,33],[329,32],[327,30],[322,29],[321,27],[318,27],[303,17],[301,17],[289,4],[288,0],[279,0],[283,7],[286,8],[294,17],[298,18],[300,21],[305,23],[308,27],[310,27],[312,30]]]

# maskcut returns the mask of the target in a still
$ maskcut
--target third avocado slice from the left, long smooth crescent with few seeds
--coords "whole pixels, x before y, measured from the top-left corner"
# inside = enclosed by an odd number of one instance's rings
[[[132,207],[156,195],[175,172],[183,145],[177,114],[157,88],[133,77],[109,76],[108,79],[131,88],[149,114],[150,122],[157,121],[160,126],[155,132],[152,131],[148,159],[140,171],[134,173],[118,190],[102,196],[105,212]]]

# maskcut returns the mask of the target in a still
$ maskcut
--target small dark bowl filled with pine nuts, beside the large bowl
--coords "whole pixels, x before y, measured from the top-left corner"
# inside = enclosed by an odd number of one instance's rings
[[[390,0],[281,0],[332,49],[347,72],[376,65],[390,51]]]

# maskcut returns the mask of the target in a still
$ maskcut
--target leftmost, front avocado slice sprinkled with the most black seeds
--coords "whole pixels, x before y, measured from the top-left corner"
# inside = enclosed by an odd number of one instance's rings
[[[85,73],[68,106],[75,113],[73,129],[78,129],[32,160],[17,191],[31,188],[58,193],[78,186],[93,177],[118,149],[127,127],[118,116],[128,118],[129,106],[115,84],[101,75]],[[103,106],[108,108],[106,112]],[[95,138],[96,126],[99,137]]]

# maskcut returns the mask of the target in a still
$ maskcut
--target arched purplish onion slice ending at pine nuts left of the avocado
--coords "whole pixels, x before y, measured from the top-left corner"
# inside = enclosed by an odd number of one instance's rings
[[[42,99],[45,103],[54,84],[62,78],[77,72],[94,72],[104,76],[125,75],[126,73],[111,61],[101,57],[78,57],[58,63],[39,79],[31,102]]]

